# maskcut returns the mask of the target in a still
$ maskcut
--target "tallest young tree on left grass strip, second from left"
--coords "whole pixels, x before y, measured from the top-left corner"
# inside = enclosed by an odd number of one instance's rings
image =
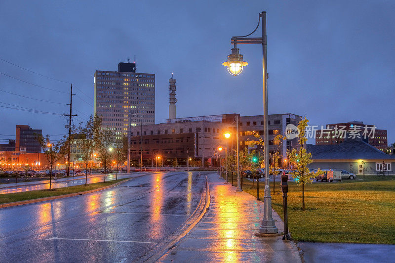
[[[94,117],[89,117],[89,120],[85,125],[80,123],[79,128],[77,129],[79,134],[76,139],[79,139],[82,161],[85,162],[85,186],[88,180],[88,163],[93,157],[92,155],[95,145],[100,143],[99,132],[101,123],[102,120],[95,114]]]

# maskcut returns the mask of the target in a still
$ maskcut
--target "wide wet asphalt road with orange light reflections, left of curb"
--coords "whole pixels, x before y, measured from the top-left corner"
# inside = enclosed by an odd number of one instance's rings
[[[158,172],[76,197],[0,209],[0,262],[131,262],[194,212],[198,172]]]

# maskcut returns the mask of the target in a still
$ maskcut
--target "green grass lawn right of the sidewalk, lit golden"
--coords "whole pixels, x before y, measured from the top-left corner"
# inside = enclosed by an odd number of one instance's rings
[[[256,196],[251,186],[244,180],[243,190]],[[260,197],[263,186],[260,181]],[[271,191],[273,208],[283,218],[279,183],[273,194],[271,182]],[[302,187],[289,183],[288,225],[296,241],[395,244],[394,176],[308,184],[305,202],[302,211]]]

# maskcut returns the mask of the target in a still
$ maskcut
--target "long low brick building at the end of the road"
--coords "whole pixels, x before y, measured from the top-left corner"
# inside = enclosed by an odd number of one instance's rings
[[[164,165],[171,166],[177,158],[180,166],[186,166],[188,159],[205,166],[216,165],[218,147],[223,148],[221,156],[225,156],[225,132],[230,132],[228,153],[236,149],[236,115],[223,114],[188,118],[168,119],[166,123],[143,125],[131,129],[130,159],[133,165],[140,160],[140,141],[142,141],[143,163],[152,166],[156,157],[160,156]],[[302,119],[294,114],[269,115],[269,151],[273,152],[280,142],[274,141],[276,134],[285,134],[287,124],[297,125]],[[141,133],[140,133],[141,132]],[[240,150],[250,148],[249,140],[254,139],[257,132],[263,137],[263,115],[239,116]],[[297,147],[297,139],[281,142],[280,154],[286,156],[286,150]],[[282,161],[283,159],[281,159]]]

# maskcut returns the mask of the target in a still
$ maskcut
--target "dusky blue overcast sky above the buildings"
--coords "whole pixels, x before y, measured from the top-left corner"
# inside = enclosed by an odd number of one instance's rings
[[[65,117],[15,108],[68,113],[73,83],[78,125],[93,114],[94,72],[116,71],[127,58],[156,74],[156,123],[168,118],[171,73],[177,117],[263,114],[262,46],[238,46],[249,64],[236,77],[222,62],[231,37],[251,33],[267,11],[269,114],[318,126],[363,121],[387,129],[392,143],[394,10],[384,0],[2,0],[0,139],[14,138],[16,125],[60,138]]]

